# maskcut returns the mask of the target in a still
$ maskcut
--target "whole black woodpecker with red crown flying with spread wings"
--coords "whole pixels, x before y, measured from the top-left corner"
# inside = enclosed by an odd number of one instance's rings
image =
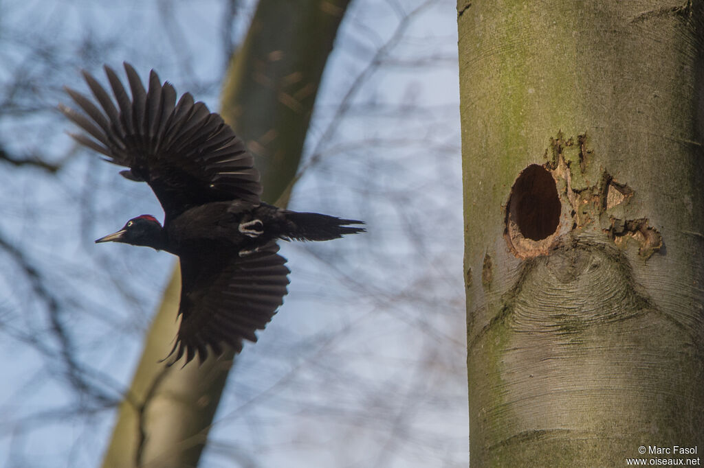
[[[151,215],[127,221],[96,242],[125,242],[179,256],[182,316],[175,360],[216,354],[222,345],[241,351],[243,338],[271,320],[286,294],[289,269],[276,241],[329,240],[364,229],[353,219],[298,213],[259,199],[259,173],[244,143],[222,118],[189,93],[176,92],[155,72],[145,90],[125,63],[132,98],[117,74],[106,67],[113,98],[84,72],[100,108],[72,89],[66,91],[84,113],[61,111],[92,136],[80,143],[130,169],[120,174],[145,181],[161,202],[163,227]]]

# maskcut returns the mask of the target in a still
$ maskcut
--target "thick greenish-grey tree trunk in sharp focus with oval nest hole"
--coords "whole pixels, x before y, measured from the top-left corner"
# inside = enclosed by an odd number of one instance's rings
[[[703,10],[458,2],[472,466],[704,451]]]

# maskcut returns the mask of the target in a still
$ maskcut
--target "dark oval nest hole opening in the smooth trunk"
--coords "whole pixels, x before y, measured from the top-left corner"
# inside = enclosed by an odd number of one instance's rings
[[[524,238],[547,238],[560,223],[560,198],[555,179],[544,167],[531,164],[513,184],[508,207],[510,219]]]

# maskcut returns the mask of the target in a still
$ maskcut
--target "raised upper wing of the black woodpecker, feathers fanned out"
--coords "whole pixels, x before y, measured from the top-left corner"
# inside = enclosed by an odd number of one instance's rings
[[[161,202],[166,219],[200,204],[224,200],[258,203],[259,172],[244,143],[220,115],[189,93],[176,103],[170,83],[161,84],[151,70],[149,91],[134,68],[125,63],[132,99],[118,75],[105,67],[115,102],[92,75],[83,76],[100,108],[87,96],[66,88],[83,110],[59,109],[88,135],[72,134],[78,142],[129,167],[122,175],[146,181]]]

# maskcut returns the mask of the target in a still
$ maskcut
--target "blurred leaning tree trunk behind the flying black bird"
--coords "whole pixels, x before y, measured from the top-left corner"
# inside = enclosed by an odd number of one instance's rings
[[[263,200],[287,193],[301,157],[322,71],[348,0],[260,2],[228,70],[222,117],[256,156]],[[176,268],[132,386],[120,406],[103,467],[194,467],[232,368],[233,354],[166,368],[177,332]],[[246,352],[246,348],[245,348]]]

